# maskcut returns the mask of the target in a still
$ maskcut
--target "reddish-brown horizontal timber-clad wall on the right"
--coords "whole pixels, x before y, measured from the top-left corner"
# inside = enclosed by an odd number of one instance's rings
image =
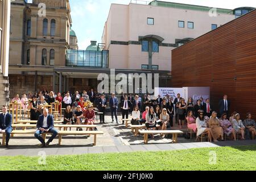
[[[172,50],[174,87],[210,86],[210,100],[228,94],[236,110],[256,119],[256,10]]]

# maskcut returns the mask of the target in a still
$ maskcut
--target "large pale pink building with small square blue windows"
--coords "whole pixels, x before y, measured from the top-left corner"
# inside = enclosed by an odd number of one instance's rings
[[[112,4],[102,43],[110,68],[170,72],[172,49],[234,18],[230,9],[172,2]]]

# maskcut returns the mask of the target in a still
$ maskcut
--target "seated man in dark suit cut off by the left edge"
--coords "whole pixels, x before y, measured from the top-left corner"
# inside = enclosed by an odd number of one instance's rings
[[[6,134],[6,147],[9,147],[9,139],[11,136],[11,131],[13,131],[13,128],[11,127],[12,123],[12,115],[7,112],[7,106],[2,107],[3,113],[0,114],[0,133]],[[1,144],[1,143],[0,143]],[[4,144],[4,143],[3,143]]]

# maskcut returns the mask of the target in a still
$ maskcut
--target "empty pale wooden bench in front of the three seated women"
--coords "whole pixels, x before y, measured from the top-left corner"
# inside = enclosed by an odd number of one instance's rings
[[[139,133],[144,134],[144,143],[148,142],[148,134],[172,134],[172,142],[177,143],[177,135],[183,134],[179,130],[139,130]]]

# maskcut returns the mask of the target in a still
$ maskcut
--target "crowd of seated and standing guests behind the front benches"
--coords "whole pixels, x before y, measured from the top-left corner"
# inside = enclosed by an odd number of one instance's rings
[[[239,136],[241,139],[255,138],[256,135],[256,123],[252,119],[251,113],[247,113],[247,118],[242,122],[240,114],[234,112],[232,116],[228,119],[228,108],[230,107],[230,102],[227,100],[227,96],[224,96],[224,100],[219,103],[219,110],[221,118],[217,118],[216,111],[213,111],[210,100],[205,100],[203,98],[197,100],[196,105],[193,105],[192,97],[188,98],[187,103],[184,98],[177,94],[174,98],[166,95],[166,97],[161,98],[150,98],[148,95],[140,97],[138,95],[132,96],[123,94],[121,96],[121,102],[118,103],[117,97],[112,93],[111,97],[105,98],[105,94],[98,94],[90,90],[87,94],[86,91],[80,94],[76,92],[71,94],[66,92],[63,95],[61,93],[47,92],[44,89],[42,92],[33,94],[23,94],[20,100],[17,94],[13,98],[12,102],[20,102],[24,112],[30,109],[31,120],[38,120],[42,115],[46,115],[45,105],[53,105],[57,102],[62,103],[62,107],[65,108],[64,111],[64,121],[65,125],[93,125],[95,121],[95,111],[93,107],[97,107],[98,113],[100,115],[100,123],[105,123],[105,112],[106,107],[110,107],[110,112],[112,116],[112,123],[118,122],[117,113],[118,108],[121,109],[122,113],[122,124],[125,118],[128,119],[129,113],[131,113],[131,124],[132,125],[142,125],[144,124],[147,130],[167,130],[174,126],[174,122],[179,124],[180,129],[187,125],[188,129],[191,129],[197,136],[201,134],[207,134],[209,141],[217,142],[218,140],[224,140],[224,137],[231,137],[233,140],[237,140]],[[59,111],[61,110],[59,106]],[[48,110],[47,110],[48,114]],[[1,123],[0,123],[1,124]],[[3,126],[3,125],[0,125]],[[41,130],[42,129],[42,130]],[[44,129],[40,127],[40,131],[51,129],[51,125]],[[5,131],[3,127],[0,129],[0,133]],[[65,129],[67,130],[67,129]],[[70,129],[71,130],[71,129]],[[77,130],[82,130],[82,128],[77,128]],[[96,128],[94,130],[97,130]],[[35,134],[41,142],[42,139],[38,137],[40,131]],[[55,131],[52,130],[55,134]],[[154,135],[151,135],[154,138]],[[164,135],[162,135],[164,137]],[[49,142],[52,140],[50,139]],[[48,145],[48,143],[43,143],[43,145]]]

